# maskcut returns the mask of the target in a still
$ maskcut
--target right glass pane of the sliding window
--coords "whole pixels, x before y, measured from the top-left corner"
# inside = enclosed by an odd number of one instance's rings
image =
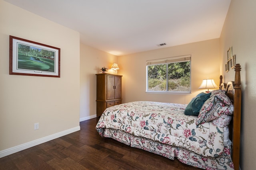
[[[190,61],[168,64],[168,91],[191,91]]]

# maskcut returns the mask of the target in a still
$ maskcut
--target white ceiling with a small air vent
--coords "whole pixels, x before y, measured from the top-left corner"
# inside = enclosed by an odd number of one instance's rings
[[[231,0],[5,1],[78,31],[81,43],[120,56],[219,38]]]

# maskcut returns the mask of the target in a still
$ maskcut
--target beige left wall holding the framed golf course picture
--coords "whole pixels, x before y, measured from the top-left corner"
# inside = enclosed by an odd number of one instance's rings
[[[9,75],[9,35],[60,48],[60,78]],[[78,32],[0,0],[0,153],[80,129],[79,41]]]

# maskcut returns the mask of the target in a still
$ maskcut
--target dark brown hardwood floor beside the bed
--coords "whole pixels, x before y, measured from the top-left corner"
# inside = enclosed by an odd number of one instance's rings
[[[95,130],[98,118],[80,122],[81,130],[0,158],[0,170],[199,170],[132,148]]]

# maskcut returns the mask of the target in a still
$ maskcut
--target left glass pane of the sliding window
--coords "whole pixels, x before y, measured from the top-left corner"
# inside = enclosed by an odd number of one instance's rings
[[[148,91],[166,91],[166,64],[148,66]]]

